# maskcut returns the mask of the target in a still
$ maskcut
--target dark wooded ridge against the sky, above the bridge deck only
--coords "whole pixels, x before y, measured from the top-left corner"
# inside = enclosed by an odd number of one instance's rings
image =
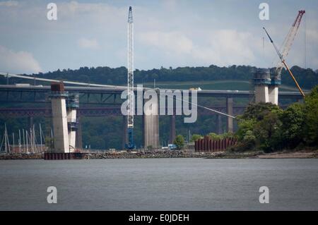
[[[151,70],[134,71],[135,83],[148,83],[156,81],[202,81],[202,80],[251,80],[256,70],[253,66],[208,66],[208,67],[177,67],[177,68],[153,68]],[[273,68],[271,68],[273,71]],[[293,66],[291,68],[295,78],[301,87],[311,89],[318,83],[318,75],[310,68],[300,68]],[[102,83],[107,85],[124,85],[127,79],[127,70],[124,66],[119,68],[110,68],[107,66],[98,66],[96,68],[81,67],[77,70],[64,69],[48,73],[33,74],[41,78],[52,78],[60,80],[75,80],[85,83]],[[282,71],[283,85],[294,86],[292,78],[285,69]],[[16,82],[25,83],[25,80],[16,80]],[[5,83],[4,78],[0,83]]]

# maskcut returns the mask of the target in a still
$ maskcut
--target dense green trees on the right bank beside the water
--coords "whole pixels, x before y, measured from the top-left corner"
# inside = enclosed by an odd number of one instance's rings
[[[238,150],[275,150],[318,146],[318,85],[305,102],[280,109],[271,103],[250,104],[238,121]]]

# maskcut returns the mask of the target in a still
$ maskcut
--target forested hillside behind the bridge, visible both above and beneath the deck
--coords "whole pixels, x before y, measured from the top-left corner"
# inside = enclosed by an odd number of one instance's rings
[[[134,71],[135,84],[138,83],[153,83],[156,82],[194,82],[195,81],[208,81],[208,80],[252,80],[253,72],[257,68],[252,66],[229,66],[229,67],[178,67],[178,68],[160,68],[152,69],[148,71],[138,70]],[[313,71],[310,68],[300,68],[293,66],[291,68],[295,78],[300,83],[300,86],[304,89],[310,90],[312,87],[318,84],[317,71]],[[99,83],[107,85],[126,85],[127,71],[124,66],[119,68],[110,68],[107,66],[88,68],[81,67],[76,70],[64,69],[57,70],[48,73],[33,74],[41,78],[52,78],[60,80],[74,80],[84,83]],[[1,77],[0,83],[5,84],[6,78]],[[31,83],[33,80],[23,80],[17,78],[10,78],[10,84],[14,83]],[[39,83],[37,83],[39,84]],[[293,86],[292,78],[282,71],[282,84]],[[237,85],[240,85],[237,83]],[[234,90],[237,90],[237,87]],[[203,101],[203,99],[201,99]],[[207,102],[208,106],[213,106],[213,102],[216,104],[218,101],[224,99],[212,98]],[[206,100],[204,100],[206,101]],[[211,102],[212,101],[212,102]],[[238,100],[235,100],[238,101]],[[239,102],[235,102],[238,104]],[[9,103],[10,104],[10,103]],[[205,103],[202,103],[206,105]],[[218,103],[219,104],[219,103]],[[223,102],[224,104],[224,102]],[[6,107],[6,104],[1,104],[1,107]],[[10,104],[13,107],[13,104]],[[16,107],[16,104],[14,104]],[[22,105],[19,107],[23,107]],[[32,107],[30,103],[25,104],[25,107]],[[41,106],[42,107],[42,106]],[[216,132],[216,115],[213,116],[200,116],[196,123],[184,124],[182,117],[177,117],[176,127],[177,134],[187,137],[189,130],[191,133],[197,133],[204,135],[206,133]],[[95,149],[108,149],[115,147],[120,149],[122,147],[122,117],[121,116],[106,116],[103,118],[82,118],[83,129],[83,147],[91,145]],[[4,133],[4,123],[8,127],[8,133],[18,132],[19,129],[28,129],[28,118],[0,118],[0,133]],[[49,135],[50,123],[46,118],[35,118],[34,123],[42,123],[43,130],[46,130],[46,134]],[[135,141],[138,146],[142,145],[142,133],[141,133],[141,118],[136,117],[136,129],[135,129]],[[167,144],[169,139],[169,126],[170,120],[167,116],[161,116],[160,118],[160,144]],[[225,131],[225,118],[222,121],[222,130]],[[236,124],[235,124],[236,126]],[[254,132],[254,131],[253,131]]]

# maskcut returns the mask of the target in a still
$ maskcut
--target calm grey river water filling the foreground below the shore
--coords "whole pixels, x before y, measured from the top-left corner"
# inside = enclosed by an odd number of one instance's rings
[[[9,209],[318,210],[318,159],[0,161],[0,210]]]

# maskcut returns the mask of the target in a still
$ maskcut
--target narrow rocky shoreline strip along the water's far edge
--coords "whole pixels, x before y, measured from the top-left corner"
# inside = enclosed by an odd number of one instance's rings
[[[187,151],[151,151],[151,152],[90,152],[83,159],[167,159],[167,158],[203,158],[203,159],[318,159],[317,150],[282,152],[187,152]],[[44,159],[44,154],[0,154],[0,160]],[[67,159],[64,159],[67,160]]]

